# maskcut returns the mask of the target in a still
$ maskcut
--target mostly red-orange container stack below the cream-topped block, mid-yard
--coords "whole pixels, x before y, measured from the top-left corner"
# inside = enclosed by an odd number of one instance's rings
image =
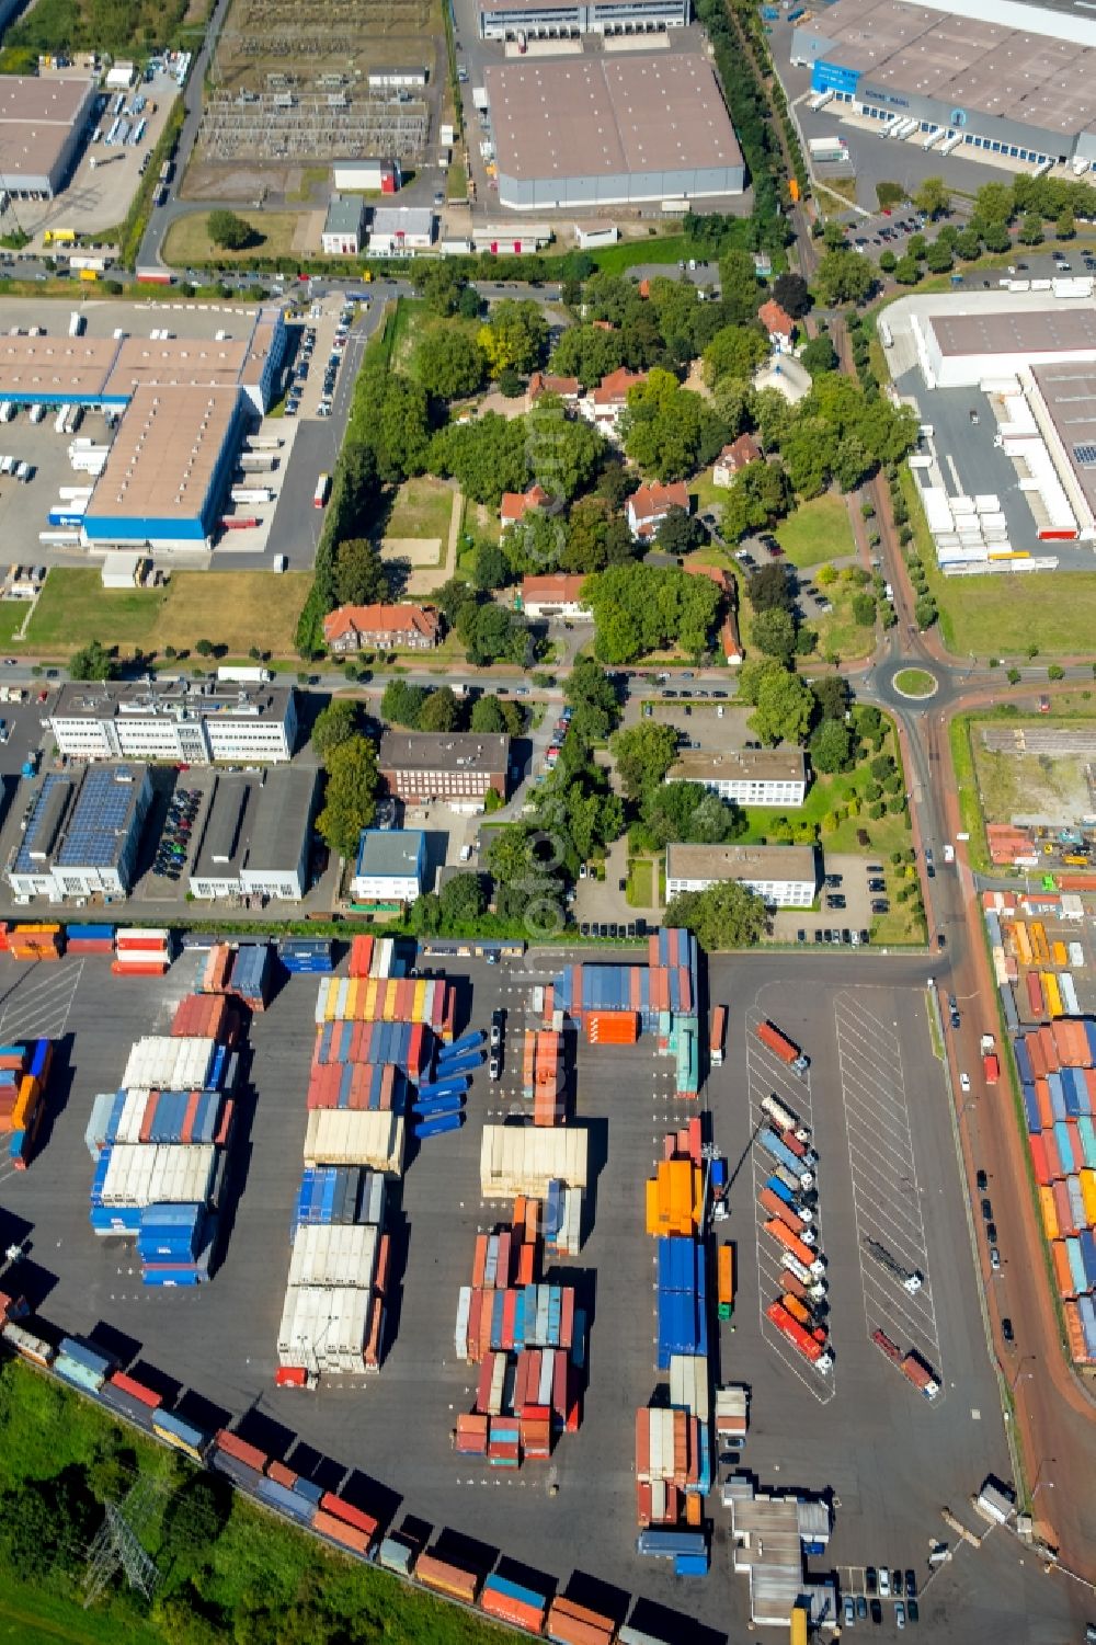
[[[492,1467],[548,1457],[553,1436],[581,1421],[586,1319],[573,1286],[536,1281],[538,1216],[535,1199],[518,1198],[512,1224],[479,1234],[472,1283],[457,1296],[454,1351],[481,1369],[476,1408],[457,1416],[454,1443]]]

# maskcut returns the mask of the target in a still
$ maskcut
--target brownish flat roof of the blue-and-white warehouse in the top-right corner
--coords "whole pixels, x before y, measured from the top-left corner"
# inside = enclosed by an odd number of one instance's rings
[[[805,33],[826,41],[824,59],[859,72],[864,92],[903,90],[1048,132],[1096,127],[1096,49],[1075,13],[1073,41],[1043,33],[1035,7],[971,7],[968,15],[905,0],[836,0]],[[1017,28],[1015,21],[1027,28]],[[1088,15],[1088,25],[1093,15]]]

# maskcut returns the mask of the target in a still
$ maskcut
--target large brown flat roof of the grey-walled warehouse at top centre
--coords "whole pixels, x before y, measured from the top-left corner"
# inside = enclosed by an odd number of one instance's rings
[[[499,171],[617,176],[737,166],[742,151],[699,53],[560,58],[485,71]]]

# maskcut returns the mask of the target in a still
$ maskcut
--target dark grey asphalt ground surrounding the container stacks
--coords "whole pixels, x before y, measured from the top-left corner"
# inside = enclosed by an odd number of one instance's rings
[[[128,1244],[91,1232],[82,1133],[92,1096],[117,1086],[133,1038],[163,1028],[174,1002],[193,987],[197,961],[184,956],[156,980],[115,979],[95,957],[33,971],[0,957],[0,1033],[63,1036],[41,1153],[30,1171],[0,1183],[0,1199],[30,1224],[46,1318],[67,1329],[109,1326],[133,1354],[193,1390],[188,1398],[209,1402],[204,1415],[247,1410],[245,1431],[270,1449],[301,1464],[327,1456],[359,1469],[365,1499],[385,1518],[420,1515],[550,1578],[578,1571],[587,1584],[609,1584],[611,1596],[643,1594],[691,1619],[681,1640],[703,1640],[701,1624],[721,1638],[741,1638],[745,1584],[729,1569],[729,1518],[718,1495],[711,1499],[714,1569],[708,1582],[675,1582],[662,1563],[640,1561],[634,1551],[634,1411],[660,1380],[643,1181],[662,1156],[665,1133],[688,1117],[673,1097],[671,1063],[653,1053],[650,1040],[634,1048],[576,1046],[576,1122],[591,1135],[591,1189],[584,1244],[566,1278],[579,1286],[591,1319],[583,1426],[560,1439],[551,1472],[527,1464],[500,1477],[449,1446],[454,1416],[472,1397],[471,1367],[453,1357],[457,1290],[471,1278],[476,1232],[509,1216],[502,1202],[481,1202],[481,1125],[525,1109],[520,1046],[532,989],[568,957],[530,952],[497,967],[457,962],[459,1020],[487,1026],[492,1010],[505,1013],[502,1077],[490,1082],[485,1069],[476,1076],[462,1132],[411,1145],[403,1184],[392,1194],[397,1286],[380,1375],[329,1379],[314,1393],[273,1390],[316,979],[290,979],[252,1023],[253,1096],[240,1114],[214,1281],[194,1291],[156,1291],[140,1285]],[[821,1564],[910,1566],[925,1594],[928,1540],[953,1540],[941,1505],[971,1523],[969,1494],[989,1471],[1009,1477],[1009,1461],[946,1097],[918,985],[926,962],[887,964],[882,980],[879,961],[867,956],[849,956],[839,979],[813,956],[719,957],[711,966],[711,999],[729,1002],[731,1012],[727,1059],[713,1071],[703,1102],[729,1160],[731,1222],[724,1227],[737,1242],[739,1270],[736,1314],[718,1328],[713,1352],[718,1380],[752,1387],[744,1466],[769,1485],[833,1492],[836,1530]],[[749,1025],[762,1015],[801,1043],[811,1061],[810,1086],[788,1086],[787,1076],[777,1084],[778,1071],[755,1058]],[[871,1036],[867,1050],[864,1035]],[[765,1265],[759,1273],[750,1249],[755,1179],[747,1155],[755,1104],[770,1082],[813,1124],[820,1155],[834,1346],[824,1416],[805,1380],[810,1374],[760,1324],[772,1275]],[[874,1150],[871,1133],[884,1124],[887,1145]],[[903,1206],[900,1224],[889,1211],[895,1196]],[[885,1275],[867,1290],[861,1260],[867,1227],[890,1242],[895,1257],[910,1265],[917,1258],[923,1273],[922,1296],[931,1296],[936,1369],[945,1379],[943,1397],[931,1405],[869,1341],[869,1328],[882,1324],[903,1351],[917,1344],[931,1357],[930,1326],[917,1311],[922,1298],[900,1298]],[[548,1482],[558,1495],[546,1492]],[[996,1541],[978,1551],[959,1550],[954,1566],[931,1578],[922,1617],[935,1622],[940,1638],[994,1637],[991,1622],[1002,1594],[1017,1596],[1032,1617],[1057,1614],[1050,1592],[1019,1597],[1027,1576],[1015,1555],[1001,1551],[1002,1536],[994,1533]]]

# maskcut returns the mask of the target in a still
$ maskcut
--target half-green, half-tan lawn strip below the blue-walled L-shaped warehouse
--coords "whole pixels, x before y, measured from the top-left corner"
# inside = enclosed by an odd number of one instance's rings
[[[209,640],[227,646],[229,656],[247,656],[252,645],[293,656],[309,586],[303,571],[280,577],[268,571],[176,571],[166,589],[104,589],[99,571],[59,568],[46,577],[26,646],[58,655],[100,640],[123,653],[168,645],[193,651],[197,640]]]

